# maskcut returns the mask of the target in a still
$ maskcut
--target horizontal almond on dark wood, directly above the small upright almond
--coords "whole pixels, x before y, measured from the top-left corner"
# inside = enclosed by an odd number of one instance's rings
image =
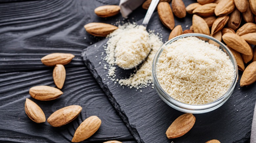
[[[66,53],[52,53],[49,55],[46,55],[41,58],[41,61],[46,66],[55,66],[57,64],[66,65],[70,63],[70,61],[75,56],[72,54],[66,54]]]

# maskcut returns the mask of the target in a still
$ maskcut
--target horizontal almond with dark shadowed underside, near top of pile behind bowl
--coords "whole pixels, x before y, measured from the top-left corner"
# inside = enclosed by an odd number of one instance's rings
[[[214,9],[217,6],[215,3],[209,3],[202,5],[196,9],[193,10],[193,14],[197,14],[199,16],[207,17],[214,15]]]

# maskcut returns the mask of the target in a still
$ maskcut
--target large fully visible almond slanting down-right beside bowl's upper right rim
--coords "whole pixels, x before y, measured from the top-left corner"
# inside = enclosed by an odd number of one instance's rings
[[[232,49],[245,55],[251,55],[249,44],[240,36],[234,33],[225,33],[222,36],[223,41]]]

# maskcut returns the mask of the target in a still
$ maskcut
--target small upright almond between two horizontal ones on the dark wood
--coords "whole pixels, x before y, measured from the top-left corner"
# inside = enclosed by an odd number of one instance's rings
[[[66,79],[66,70],[63,65],[57,64],[53,69],[53,81],[59,89],[64,85]]]

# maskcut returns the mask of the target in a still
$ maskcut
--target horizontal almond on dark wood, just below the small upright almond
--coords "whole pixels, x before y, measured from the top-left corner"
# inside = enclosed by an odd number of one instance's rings
[[[49,86],[35,86],[29,89],[31,97],[37,100],[47,101],[59,98],[63,94],[58,88]]]

